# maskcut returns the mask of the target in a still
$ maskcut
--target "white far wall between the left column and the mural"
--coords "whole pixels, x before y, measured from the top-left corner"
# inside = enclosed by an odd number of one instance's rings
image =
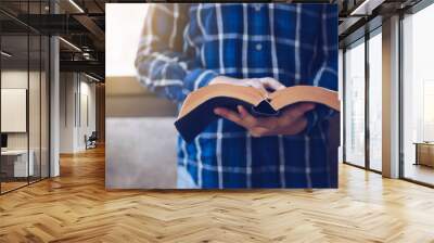
[[[61,73],[60,152],[86,150],[85,135],[95,130],[95,85],[82,74]],[[87,97],[87,108],[85,99]],[[89,124],[82,114],[89,114]],[[81,120],[80,120],[81,118]]]

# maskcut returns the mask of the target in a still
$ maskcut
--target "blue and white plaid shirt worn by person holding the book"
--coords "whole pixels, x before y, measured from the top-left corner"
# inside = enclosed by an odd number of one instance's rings
[[[336,90],[337,8],[149,4],[136,66],[143,85],[179,104],[218,75]],[[178,165],[199,188],[336,187],[329,168],[337,162],[327,159],[331,113],[317,105],[304,132],[263,138],[217,119],[191,143],[178,138]]]

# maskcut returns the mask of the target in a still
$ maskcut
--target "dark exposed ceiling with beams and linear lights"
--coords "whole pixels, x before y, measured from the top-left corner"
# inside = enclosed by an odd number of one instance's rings
[[[341,42],[373,17],[387,15],[419,2],[419,0],[312,1],[339,4]],[[0,26],[3,35],[3,50],[13,52],[14,62],[20,63],[27,59],[26,35],[28,31],[59,35],[65,40],[60,41],[61,71],[88,72],[104,77],[105,3],[115,2],[143,1],[1,0]],[[53,14],[54,12],[56,14]],[[39,55],[39,49],[34,47],[33,42],[30,41],[30,63],[33,63],[33,57],[36,59]]]

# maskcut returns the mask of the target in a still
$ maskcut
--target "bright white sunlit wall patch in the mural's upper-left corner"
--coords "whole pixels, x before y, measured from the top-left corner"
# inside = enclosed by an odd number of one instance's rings
[[[136,76],[135,59],[146,3],[105,5],[105,76]]]

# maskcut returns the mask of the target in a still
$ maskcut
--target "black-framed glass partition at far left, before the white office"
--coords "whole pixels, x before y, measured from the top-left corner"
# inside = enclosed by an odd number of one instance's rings
[[[18,14],[47,12],[48,1],[28,3]],[[1,194],[49,176],[49,48],[48,36],[0,13]]]

